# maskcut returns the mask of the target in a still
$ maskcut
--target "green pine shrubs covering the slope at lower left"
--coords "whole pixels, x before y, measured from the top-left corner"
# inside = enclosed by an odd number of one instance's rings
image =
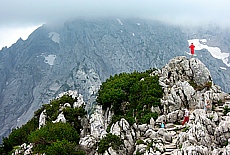
[[[34,113],[34,117],[20,128],[13,129],[8,137],[3,138],[0,154],[11,154],[15,147],[23,143],[34,143],[34,153],[47,155],[84,155],[85,152],[76,149],[80,140],[81,123],[78,117],[86,115],[84,107],[73,108],[76,99],[64,95],[54,99],[50,104],[44,104]],[[63,109],[67,123],[52,123],[59,114],[60,106],[69,103],[70,107]],[[39,116],[46,109],[46,125],[38,129]]]

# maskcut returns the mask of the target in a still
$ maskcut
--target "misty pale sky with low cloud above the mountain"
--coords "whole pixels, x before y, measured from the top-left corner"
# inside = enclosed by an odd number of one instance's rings
[[[74,18],[138,17],[230,26],[229,0],[0,0],[0,49],[39,25]],[[7,41],[7,42],[6,42]]]

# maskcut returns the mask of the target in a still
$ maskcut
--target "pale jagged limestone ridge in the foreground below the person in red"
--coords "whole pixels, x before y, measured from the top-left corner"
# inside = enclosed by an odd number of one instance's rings
[[[224,107],[230,108],[230,96],[213,83],[206,66],[197,58],[175,57],[152,75],[160,77],[164,90],[163,108],[152,107],[152,112],[160,116],[156,120],[151,118],[149,124],[130,125],[124,118],[113,123],[109,133],[120,137],[124,144],[116,150],[109,147],[103,155],[229,155],[230,113],[223,112]],[[205,100],[211,102],[207,112]],[[84,104],[83,100],[79,101],[78,105]],[[188,107],[190,120],[182,126],[183,110]],[[96,105],[89,121],[82,121],[80,146],[88,154],[100,154],[97,143],[107,136],[112,115],[110,109],[103,110]],[[160,128],[163,121],[166,127]]]

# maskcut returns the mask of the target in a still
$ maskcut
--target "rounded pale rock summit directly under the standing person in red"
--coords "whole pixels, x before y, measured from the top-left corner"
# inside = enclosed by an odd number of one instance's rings
[[[178,81],[193,81],[197,86],[203,87],[207,83],[212,83],[209,70],[197,58],[175,57],[155,73],[161,76],[160,81],[166,85],[176,84]]]

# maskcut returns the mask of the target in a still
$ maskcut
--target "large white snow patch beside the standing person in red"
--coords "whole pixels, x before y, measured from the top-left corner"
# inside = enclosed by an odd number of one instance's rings
[[[188,40],[189,45],[191,43],[195,45],[195,50],[207,49],[214,58],[221,59],[223,63],[230,67],[230,63],[228,62],[229,53],[221,52],[221,49],[219,47],[210,47],[208,45],[205,45],[206,42],[206,39]]]

